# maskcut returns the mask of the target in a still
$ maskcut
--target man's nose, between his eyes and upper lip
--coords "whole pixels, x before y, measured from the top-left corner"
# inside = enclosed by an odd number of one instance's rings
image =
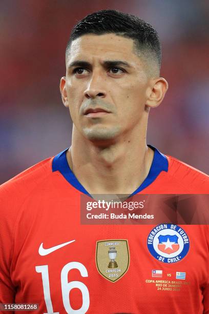
[[[102,77],[97,73],[94,73],[89,81],[88,87],[84,92],[87,99],[94,99],[96,97],[105,98],[107,92],[105,90],[104,83],[102,82]]]

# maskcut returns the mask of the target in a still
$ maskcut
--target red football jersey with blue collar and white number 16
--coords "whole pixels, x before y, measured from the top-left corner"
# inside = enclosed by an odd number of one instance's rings
[[[206,174],[153,149],[133,194],[208,194]],[[0,303],[50,314],[209,313],[208,225],[81,224],[89,194],[66,151],[1,186]]]

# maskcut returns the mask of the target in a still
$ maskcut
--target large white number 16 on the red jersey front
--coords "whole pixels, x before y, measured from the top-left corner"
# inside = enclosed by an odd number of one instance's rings
[[[68,282],[68,272],[71,269],[78,269],[82,277],[88,277],[88,272],[86,267],[78,262],[70,262],[66,264],[61,270],[61,292],[62,292],[62,300],[64,307],[67,313],[79,313],[84,314],[88,311],[90,305],[89,299],[89,290],[85,284],[80,281],[71,281]],[[36,272],[41,272],[42,281],[43,281],[43,290],[44,290],[44,299],[47,307],[47,313],[44,314],[59,314],[59,312],[54,312],[51,295],[50,295],[50,287],[49,287],[49,271],[48,265],[35,266]],[[75,310],[70,305],[69,293],[73,288],[78,288],[82,293],[82,306]]]

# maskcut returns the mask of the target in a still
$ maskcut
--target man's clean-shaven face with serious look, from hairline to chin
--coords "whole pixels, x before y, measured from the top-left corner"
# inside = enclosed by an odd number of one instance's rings
[[[114,140],[144,123],[151,78],[133,40],[83,35],[72,42],[66,63],[60,85],[64,103],[86,138]]]

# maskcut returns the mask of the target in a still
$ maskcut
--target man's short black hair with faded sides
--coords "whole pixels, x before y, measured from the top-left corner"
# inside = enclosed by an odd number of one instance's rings
[[[138,16],[117,10],[100,10],[81,19],[72,29],[66,48],[66,55],[72,41],[85,34],[102,35],[115,33],[131,38],[138,51],[147,52],[158,64],[161,64],[161,46],[154,27]]]

